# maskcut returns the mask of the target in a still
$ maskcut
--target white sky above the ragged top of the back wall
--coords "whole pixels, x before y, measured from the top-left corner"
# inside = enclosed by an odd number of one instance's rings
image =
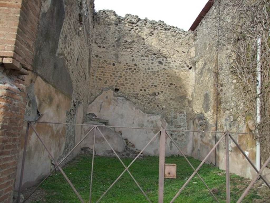
[[[188,30],[208,0],[95,0],[95,10],[114,10],[117,15],[162,20]]]

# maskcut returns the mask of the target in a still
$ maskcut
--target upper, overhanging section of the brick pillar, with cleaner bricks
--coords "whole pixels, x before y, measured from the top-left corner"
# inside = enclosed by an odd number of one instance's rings
[[[31,70],[41,0],[1,0],[0,8],[0,57],[8,68]]]

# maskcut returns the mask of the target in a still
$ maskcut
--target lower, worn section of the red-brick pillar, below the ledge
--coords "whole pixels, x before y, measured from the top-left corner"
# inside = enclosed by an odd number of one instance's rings
[[[11,203],[13,198],[26,105],[23,77],[18,71],[0,65],[0,202],[3,203]]]

